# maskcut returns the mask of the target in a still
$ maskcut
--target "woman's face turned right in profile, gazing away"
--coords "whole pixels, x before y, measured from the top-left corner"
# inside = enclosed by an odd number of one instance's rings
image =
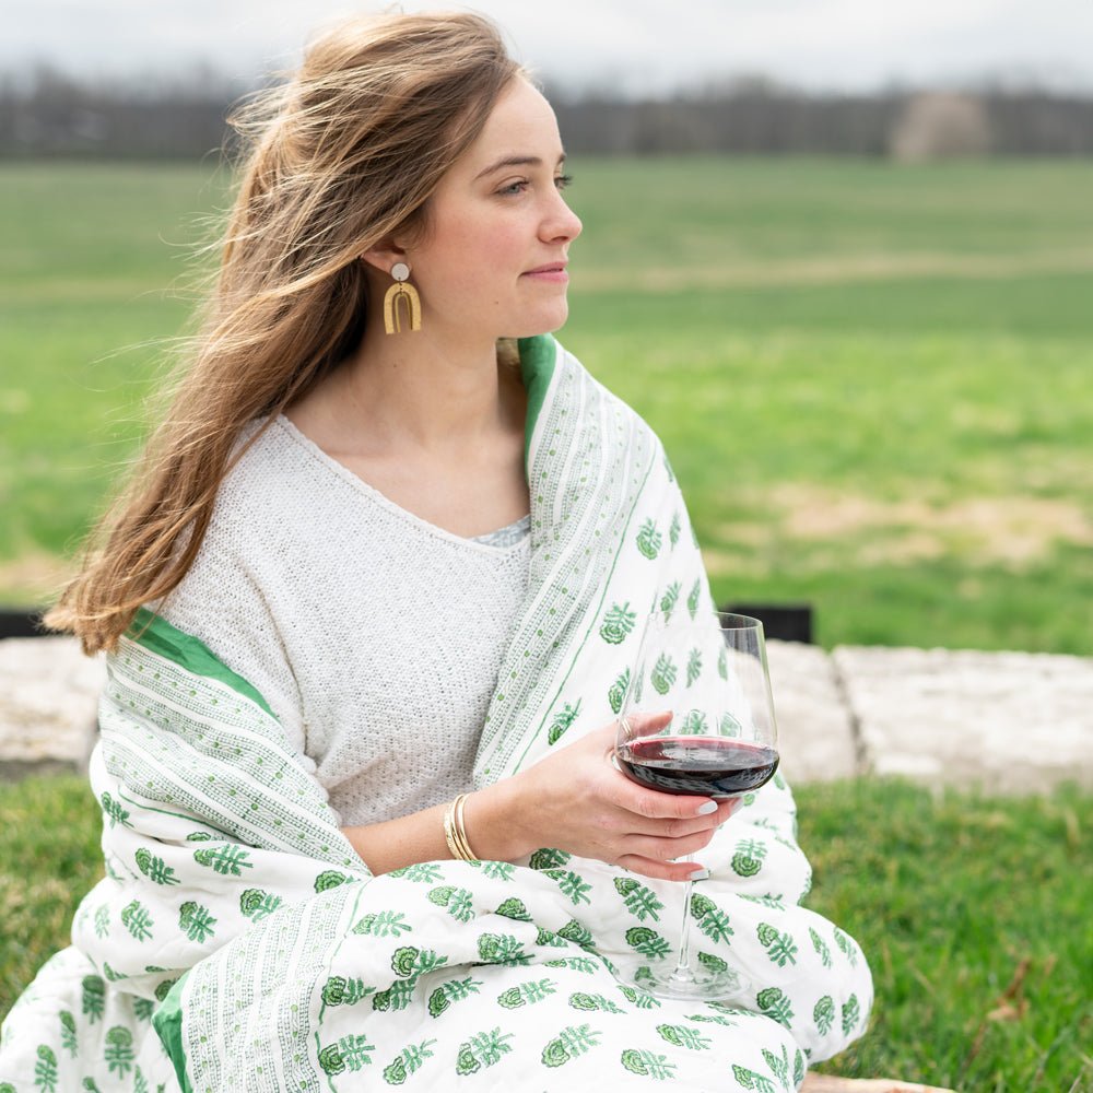
[[[554,111],[515,79],[430,200],[424,240],[408,248],[424,329],[453,338],[525,338],[561,327],[580,221],[562,198]]]

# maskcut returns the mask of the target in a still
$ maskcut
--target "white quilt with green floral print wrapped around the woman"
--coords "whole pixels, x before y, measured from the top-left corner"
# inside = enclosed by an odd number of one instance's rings
[[[650,612],[681,627],[666,703],[725,670],[683,636],[710,597],[659,442],[553,339],[521,357],[531,581],[479,785],[618,714]],[[549,847],[372,877],[262,696],[200,643],[145,612],[108,667],[91,765],[106,875],[4,1023],[0,1093],[774,1093],[865,1029],[868,966],[800,906],[780,777],[703,853],[689,908],[697,959],[747,995],[660,1000],[611,967],[673,959],[682,885]]]

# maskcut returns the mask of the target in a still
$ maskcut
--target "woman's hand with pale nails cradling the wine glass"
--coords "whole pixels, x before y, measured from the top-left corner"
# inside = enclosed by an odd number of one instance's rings
[[[656,732],[669,716],[637,714],[631,720]],[[612,722],[469,797],[471,843],[477,848],[479,842],[507,841],[507,853],[497,856],[509,860],[556,847],[661,880],[682,881],[702,870],[701,862],[672,859],[702,850],[736,802],[661,794],[631,781],[611,762],[615,733]]]

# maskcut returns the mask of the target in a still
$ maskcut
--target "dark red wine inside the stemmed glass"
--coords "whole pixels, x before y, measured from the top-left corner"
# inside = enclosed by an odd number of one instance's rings
[[[774,777],[778,753],[726,737],[643,737],[615,752],[635,781],[663,794],[739,797]]]

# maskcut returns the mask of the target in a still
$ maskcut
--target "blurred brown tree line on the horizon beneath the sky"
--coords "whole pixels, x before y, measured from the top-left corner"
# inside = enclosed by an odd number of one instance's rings
[[[214,78],[95,84],[40,69],[0,77],[0,157],[195,158],[231,151],[239,97]],[[809,94],[763,79],[650,99],[554,92],[573,152],[657,155],[947,156],[1093,154],[1093,95],[1032,87]]]

